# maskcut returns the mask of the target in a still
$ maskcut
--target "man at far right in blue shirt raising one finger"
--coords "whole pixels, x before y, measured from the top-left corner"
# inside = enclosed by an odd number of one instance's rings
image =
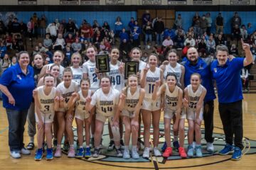
[[[241,40],[242,41],[242,40]],[[220,154],[233,152],[232,159],[239,160],[242,156],[242,84],[240,72],[242,67],[252,63],[250,46],[242,41],[245,58],[228,58],[228,47],[220,46],[217,49],[217,61],[213,62],[210,71],[216,80],[220,119],[225,133],[225,147]],[[235,135],[233,147],[233,135]]]

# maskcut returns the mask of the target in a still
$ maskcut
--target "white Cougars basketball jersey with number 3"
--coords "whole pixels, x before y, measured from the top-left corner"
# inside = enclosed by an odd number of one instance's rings
[[[38,88],[38,100],[41,106],[41,113],[43,114],[54,114],[54,98],[56,94],[56,88],[50,91],[50,94],[46,95],[43,91],[43,86],[39,86]]]

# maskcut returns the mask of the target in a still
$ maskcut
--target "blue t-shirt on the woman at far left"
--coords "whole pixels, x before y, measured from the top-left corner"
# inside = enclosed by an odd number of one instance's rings
[[[3,93],[4,108],[16,111],[27,110],[31,105],[35,82],[33,78],[33,68],[28,66],[28,74],[23,74],[19,64],[9,67],[0,78],[0,84],[7,87],[14,97],[15,106],[9,103],[8,97]]]

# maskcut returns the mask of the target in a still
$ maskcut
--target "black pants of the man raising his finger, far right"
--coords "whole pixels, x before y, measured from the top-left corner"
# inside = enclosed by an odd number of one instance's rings
[[[235,147],[242,149],[242,101],[219,103],[219,111],[225,133],[225,142],[233,145],[233,135],[235,135]]]

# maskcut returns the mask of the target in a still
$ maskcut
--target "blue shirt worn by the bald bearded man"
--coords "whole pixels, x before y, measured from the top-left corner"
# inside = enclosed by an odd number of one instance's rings
[[[206,64],[201,57],[198,57],[198,62],[193,65],[189,60],[186,60],[185,64],[185,76],[184,76],[184,85],[188,86],[191,79],[191,74],[198,73],[201,75],[202,85],[206,88],[206,97],[204,101],[213,101],[216,96],[213,89],[213,80],[210,73],[210,65]]]

